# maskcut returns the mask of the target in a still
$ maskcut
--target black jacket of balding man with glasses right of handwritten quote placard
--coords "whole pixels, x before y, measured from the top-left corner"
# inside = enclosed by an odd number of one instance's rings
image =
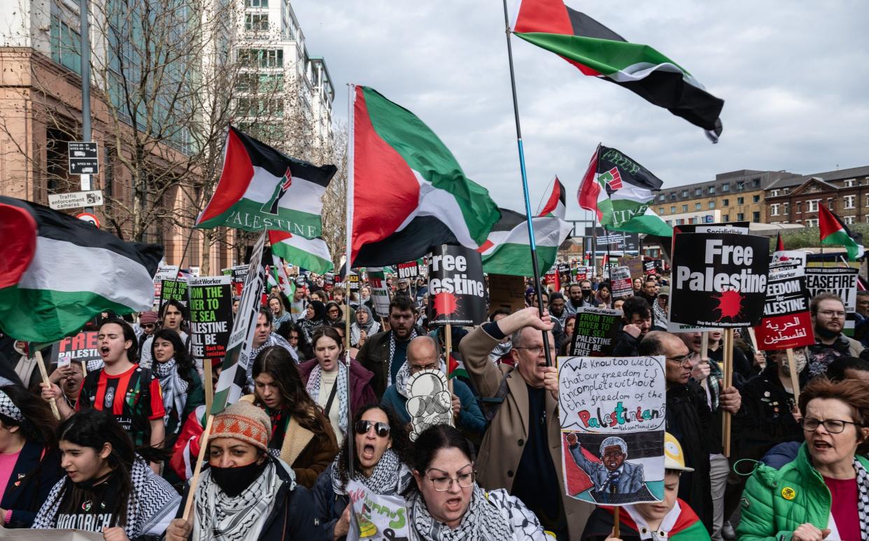
[[[667,431],[682,445],[685,465],[693,472],[680,476],[679,498],[697,512],[707,527],[713,522],[709,455],[721,452],[720,423],[706,404],[703,388],[693,382],[667,389]]]

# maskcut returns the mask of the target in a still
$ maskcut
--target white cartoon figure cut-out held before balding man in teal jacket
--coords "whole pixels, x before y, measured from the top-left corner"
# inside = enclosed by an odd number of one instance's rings
[[[442,371],[424,370],[408,379],[408,415],[414,430],[411,441],[435,424],[452,424],[453,405],[447,390],[447,377]]]

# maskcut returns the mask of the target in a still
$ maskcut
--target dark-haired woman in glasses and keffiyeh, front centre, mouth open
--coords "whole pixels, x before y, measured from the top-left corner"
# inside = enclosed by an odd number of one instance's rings
[[[420,434],[413,458],[417,491],[408,496],[410,538],[546,539],[519,498],[476,484],[474,460],[468,439],[452,426],[438,424]]]

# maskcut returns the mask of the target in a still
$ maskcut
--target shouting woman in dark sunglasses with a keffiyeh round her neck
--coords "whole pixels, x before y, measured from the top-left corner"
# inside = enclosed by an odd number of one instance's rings
[[[408,432],[388,408],[369,404],[354,416],[353,479],[382,496],[401,494],[413,484],[408,461]],[[317,478],[315,517],[323,539],[347,536],[350,508],[347,495],[348,447]]]

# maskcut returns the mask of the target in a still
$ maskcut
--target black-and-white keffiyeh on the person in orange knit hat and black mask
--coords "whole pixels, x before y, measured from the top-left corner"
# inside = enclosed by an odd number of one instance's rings
[[[259,537],[281,484],[276,467],[275,462],[267,465],[260,477],[235,498],[220,490],[210,471],[203,472],[196,490],[192,539],[242,541]]]

